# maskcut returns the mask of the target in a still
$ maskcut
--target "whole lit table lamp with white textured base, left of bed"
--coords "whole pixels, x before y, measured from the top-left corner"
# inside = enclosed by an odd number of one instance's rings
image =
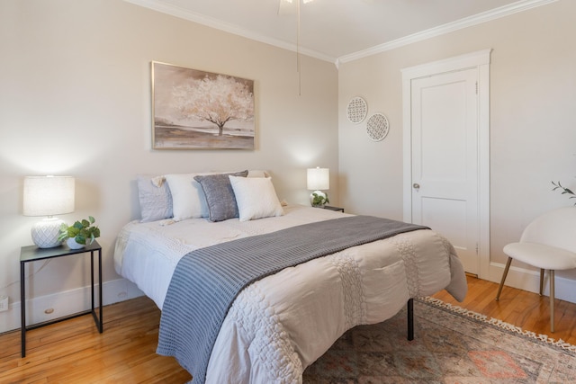
[[[39,248],[59,246],[58,232],[64,222],[54,215],[74,212],[75,184],[71,176],[26,176],[24,216],[46,216],[31,228],[32,241]]]

